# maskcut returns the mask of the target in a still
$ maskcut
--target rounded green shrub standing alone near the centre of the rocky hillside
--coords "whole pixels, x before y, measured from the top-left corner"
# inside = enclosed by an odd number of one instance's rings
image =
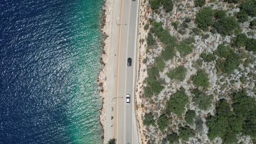
[[[193,76],[193,84],[197,87],[208,87],[209,79],[205,71],[199,69],[196,72],[196,75]]]

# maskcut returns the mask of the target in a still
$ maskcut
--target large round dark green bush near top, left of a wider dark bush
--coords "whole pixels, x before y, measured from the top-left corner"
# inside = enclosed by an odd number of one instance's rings
[[[202,8],[196,14],[195,22],[203,31],[207,31],[208,27],[213,24],[214,12],[210,7]]]

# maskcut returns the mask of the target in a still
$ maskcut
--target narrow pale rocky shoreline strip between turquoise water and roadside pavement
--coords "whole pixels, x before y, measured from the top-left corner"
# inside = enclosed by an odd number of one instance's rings
[[[98,74],[98,86],[101,87],[100,95],[102,97],[102,108],[101,108],[101,116],[100,121],[103,128],[103,139],[104,139],[104,122],[106,120],[106,80],[107,80],[107,65],[108,65],[108,56],[109,56],[109,33],[110,33],[110,20],[112,17],[112,7],[113,7],[113,0],[105,0],[105,3],[102,7],[103,14],[101,20],[101,32],[104,35],[103,40],[103,50],[101,55],[101,64],[103,65],[103,69]],[[105,141],[105,140],[103,140]]]

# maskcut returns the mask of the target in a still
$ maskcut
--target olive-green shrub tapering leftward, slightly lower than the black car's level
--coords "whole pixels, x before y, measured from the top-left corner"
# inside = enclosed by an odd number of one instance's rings
[[[176,79],[179,81],[183,81],[187,74],[187,69],[183,65],[179,65],[178,67],[172,69],[167,73],[167,76],[170,79]]]

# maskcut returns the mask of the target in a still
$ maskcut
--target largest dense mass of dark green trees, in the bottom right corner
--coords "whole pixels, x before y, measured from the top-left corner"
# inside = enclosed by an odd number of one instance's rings
[[[208,136],[211,140],[219,136],[224,143],[236,142],[236,135],[242,133],[255,137],[255,99],[245,91],[232,94],[232,107],[225,99],[219,100],[215,116],[207,118]]]

